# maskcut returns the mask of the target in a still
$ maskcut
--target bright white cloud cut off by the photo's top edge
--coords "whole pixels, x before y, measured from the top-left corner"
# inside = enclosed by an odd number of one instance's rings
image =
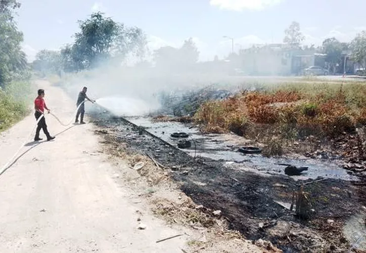
[[[210,0],[210,5],[222,10],[230,11],[260,11],[275,6],[284,0]]]

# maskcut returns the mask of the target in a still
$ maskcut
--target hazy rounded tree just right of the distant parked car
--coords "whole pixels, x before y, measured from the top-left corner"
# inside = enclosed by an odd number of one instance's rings
[[[326,61],[330,63],[333,72],[335,71],[336,65],[342,61],[342,45],[335,37],[327,38],[323,41],[322,48],[323,53],[327,54]]]

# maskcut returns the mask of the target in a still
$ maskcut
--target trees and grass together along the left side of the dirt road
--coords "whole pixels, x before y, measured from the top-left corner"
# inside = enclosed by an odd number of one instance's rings
[[[14,0],[0,1],[0,132],[29,112],[30,74],[23,34],[14,21],[18,8]]]

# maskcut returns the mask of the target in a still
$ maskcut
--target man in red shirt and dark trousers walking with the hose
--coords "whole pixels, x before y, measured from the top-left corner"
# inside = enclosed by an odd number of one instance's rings
[[[40,89],[38,90],[38,97],[36,97],[36,99],[34,100],[34,116],[36,118],[36,120],[38,120],[38,118],[44,114],[44,109],[48,110],[48,112],[50,112],[50,109],[47,107],[47,105],[44,103],[44,90]],[[53,139],[55,139],[55,137],[51,136],[50,133],[47,130],[47,124],[45,123],[45,118],[44,116],[38,121],[38,125],[37,125],[37,130],[35,132],[35,137],[34,137],[34,141],[41,141],[42,139],[39,138],[39,132],[40,130],[43,130],[43,133],[45,134],[45,136],[47,136],[47,140],[51,141]]]

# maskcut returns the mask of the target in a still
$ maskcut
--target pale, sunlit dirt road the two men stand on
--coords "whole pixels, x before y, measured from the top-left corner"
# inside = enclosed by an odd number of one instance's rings
[[[38,86],[52,112],[69,121],[75,101],[46,81]],[[93,125],[68,129],[50,115],[47,123],[56,139],[34,148],[28,136],[33,114],[0,136],[0,166],[25,138],[30,142],[0,176],[0,252],[182,252],[185,236],[156,243],[180,232],[132,202],[113,178],[118,168],[98,152]],[[137,229],[136,210],[144,214],[145,230]]]

